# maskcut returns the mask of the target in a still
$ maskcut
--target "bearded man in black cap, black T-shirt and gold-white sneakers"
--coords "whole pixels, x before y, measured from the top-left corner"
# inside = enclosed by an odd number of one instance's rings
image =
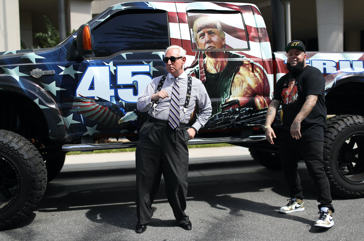
[[[330,228],[334,225],[330,184],[324,170],[323,145],[326,120],[325,79],[320,70],[306,64],[306,48],[302,41],[293,40],[286,47],[288,74],[282,76],[274,89],[265,121],[265,136],[271,144],[276,138],[271,127],[282,104],[283,125],[279,139],[279,154],[285,180],[289,186],[288,204],[278,211],[292,213],[305,210],[298,158],[302,157],[313,179],[320,217],[314,226]],[[289,81],[297,87],[297,98],[283,99]],[[293,83],[293,81],[291,82]]]

